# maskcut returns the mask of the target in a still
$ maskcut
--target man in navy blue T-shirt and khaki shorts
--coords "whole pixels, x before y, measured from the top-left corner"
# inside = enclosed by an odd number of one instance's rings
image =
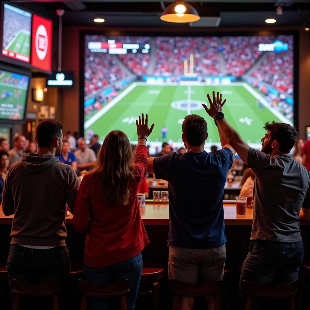
[[[216,102],[222,103],[222,95]],[[215,126],[215,125],[214,125]],[[169,182],[169,279],[184,282],[222,280],[226,257],[223,195],[234,149],[221,133],[222,149],[207,153],[207,123],[196,114],[185,117],[182,140],[186,153],[148,158],[148,172]],[[194,299],[182,298],[182,309]],[[208,309],[213,299],[207,298]]]

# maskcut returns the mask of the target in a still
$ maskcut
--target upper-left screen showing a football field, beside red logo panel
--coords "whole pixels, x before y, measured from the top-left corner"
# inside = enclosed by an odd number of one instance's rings
[[[30,62],[31,13],[3,6],[2,55]]]

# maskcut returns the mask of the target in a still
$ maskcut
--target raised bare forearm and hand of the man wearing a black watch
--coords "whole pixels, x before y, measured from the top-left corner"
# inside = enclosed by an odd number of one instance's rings
[[[222,107],[226,100],[224,100],[223,103],[220,103],[220,100],[216,100],[214,91],[212,95],[213,95],[213,102],[210,99],[209,94],[207,95],[209,103],[210,103],[210,108],[207,108],[205,104],[203,104],[203,107],[205,108],[209,116],[214,118],[217,112],[222,112]],[[233,129],[232,126],[228,124],[228,122],[226,121],[224,117],[218,118],[216,123],[224,139],[237,152],[241,160],[247,164],[248,152],[249,152],[250,146],[241,139],[241,136],[238,134],[238,132],[235,129]]]

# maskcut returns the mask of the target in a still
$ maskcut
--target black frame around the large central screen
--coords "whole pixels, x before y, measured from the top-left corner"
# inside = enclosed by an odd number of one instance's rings
[[[212,32],[210,29],[206,31],[206,29],[202,28],[190,28],[184,32],[173,32],[172,30],[166,31],[166,29],[155,28],[149,31],[141,31],[141,29],[133,29],[133,30],[124,30],[124,29],[114,29],[114,30],[106,30],[106,31],[95,31],[95,30],[81,30],[80,31],[80,113],[79,113],[79,129],[80,134],[84,136],[84,58],[85,58],[85,36],[86,35],[104,35],[104,36],[149,36],[149,37],[157,37],[157,36],[165,36],[165,37],[201,37],[201,36],[214,36],[214,37],[223,37],[223,36],[262,36],[262,35],[293,35],[294,37],[294,127],[298,130],[299,119],[298,119],[298,111],[299,111],[299,76],[298,76],[298,65],[299,65],[299,54],[298,54],[298,45],[299,45],[299,32],[298,30],[251,30],[251,31],[224,31],[222,29],[217,29]],[[82,70],[82,71],[81,71]]]

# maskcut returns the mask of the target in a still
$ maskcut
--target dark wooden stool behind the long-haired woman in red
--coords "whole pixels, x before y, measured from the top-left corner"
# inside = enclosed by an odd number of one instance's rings
[[[129,280],[127,279],[112,282],[108,285],[90,283],[78,279],[78,290],[83,296],[81,310],[86,310],[87,297],[95,297],[95,298],[121,297],[121,309],[127,310],[125,295],[130,291]]]

